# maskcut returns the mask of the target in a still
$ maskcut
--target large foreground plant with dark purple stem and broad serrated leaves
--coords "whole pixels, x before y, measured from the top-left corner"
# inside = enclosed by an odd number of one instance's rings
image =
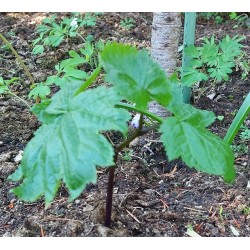
[[[88,89],[101,67],[109,87]],[[232,150],[207,129],[215,115],[182,103],[181,88],[175,78],[167,79],[145,50],[117,43],[105,46],[100,66],[84,83],[66,83],[49,102],[32,108],[42,125],[26,146],[21,165],[9,177],[21,182],[11,192],[30,202],[44,196],[48,206],[63,181],[72,201],[88,183],[96,182],[97,166],[107,167],[105,225],[110,226],[118,154],[136,137],[153,129],[161,133],[169,161],[181,158],[198,171],[233,181]],[[150,113],[150,101],[157,101],[173,115],[163,119]],[[129,111],[137,112],[139,121],[135,130],[127,134]],[[146,125],[144,116],[155,123]],[[105,131],[112,130],[124,137],[115,146],[105,137]]]

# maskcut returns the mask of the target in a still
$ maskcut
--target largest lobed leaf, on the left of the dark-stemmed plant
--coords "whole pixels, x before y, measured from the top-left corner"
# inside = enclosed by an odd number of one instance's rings
[[[43,125],[25,148],[17,172],[10,176],[22,179],[12,192],[23,200],[35,201],[44,195],[48,204],[61,180],[73,200],[86,184],[96,182],[96,166],[114,164],[113,147],[101,132],[126,134],[129,113],[114,108],[120,98],[112,88],[99,87],[75,97],[74,92],[72,84],[66,84],[45,110],[36,112]]]

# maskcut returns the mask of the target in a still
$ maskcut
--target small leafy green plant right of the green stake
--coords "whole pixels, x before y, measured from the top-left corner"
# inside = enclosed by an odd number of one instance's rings
[[[237,60],[241,58],[239,61],[242,61],[243,46],[239,42],[243,39],[244,37],[230,38],[227,35],[219,41],[219,44],[216,44],[214,37],[204,38],[203,46],[190,45],[185,48],[186,54],[192,59],[191,67],[183,69],[181,83],[192,86],[208,79],[212,79],[214,83],[221,80],[227,81],[232,69],[237,66]],[[246,67],[245,69],[247,70]],[[243,71],[244,76],[248,73],[246,70]]]

